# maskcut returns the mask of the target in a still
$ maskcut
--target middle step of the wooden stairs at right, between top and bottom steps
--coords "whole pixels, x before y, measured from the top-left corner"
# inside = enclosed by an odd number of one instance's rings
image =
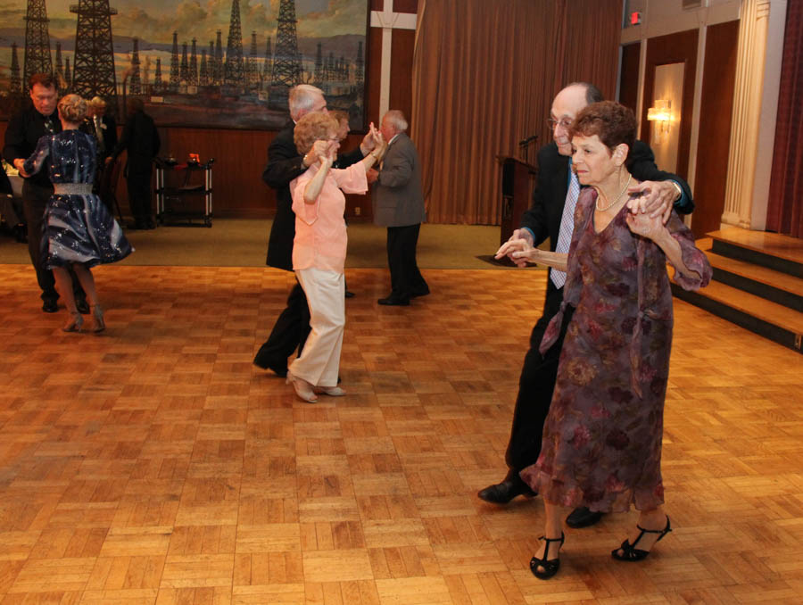
[[[716,281],[803,313],[803,279],[713,252],[706,255]]]

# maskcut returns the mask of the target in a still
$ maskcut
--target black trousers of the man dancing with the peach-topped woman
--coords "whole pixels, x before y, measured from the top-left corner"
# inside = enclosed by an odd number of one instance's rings
[[[301,284],[296,281],[287,296],[285,310],[279,314],[268,340],[254,356],[254,363],[262,367],[286,368],[287,358],[296,349],[301,357],[310,329],[310,306]]]

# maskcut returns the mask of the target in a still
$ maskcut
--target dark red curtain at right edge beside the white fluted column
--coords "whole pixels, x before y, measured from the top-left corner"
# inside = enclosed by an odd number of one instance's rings
[[[786,5],[781,89],[766,228],[803,237],[803,0]]]

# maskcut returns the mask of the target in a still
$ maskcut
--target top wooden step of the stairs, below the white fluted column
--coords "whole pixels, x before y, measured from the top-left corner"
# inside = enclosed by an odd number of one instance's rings
[[[803,278],[803,239],[766,231],[726,228],[709,233],[712,252]]]

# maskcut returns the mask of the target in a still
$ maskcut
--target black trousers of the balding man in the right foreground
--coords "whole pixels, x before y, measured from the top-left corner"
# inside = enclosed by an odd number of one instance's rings
[[[550,320],[560,310],[562,294],[562,290],[558,290],[550,282],[543,315],[530,335],[530,349],[526,352],[524,367],[521,369],[508,451],[505,452],[505,462],[508,463],[510,470],[517,473],[535,464],[541,454],[543,423],[550,411],[552,392],[558,379],[560,350],[563,348],[566,330],[574,314],[572,307],[567,307],[560,336],[550,350],[542,355],[538,352],[538,347]]]

